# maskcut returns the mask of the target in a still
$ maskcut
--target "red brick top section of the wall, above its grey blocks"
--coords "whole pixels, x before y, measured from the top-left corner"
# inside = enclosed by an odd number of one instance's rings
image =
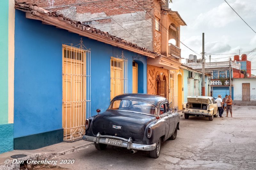
[[[24,0],[17,0],[24,2]],[[25,0],[26,3],[37,4],[38,6],[51,9],[61,10],[69,6],[76,6],[77,13],[98,13],[105,11],[108,15],[118,15],[134,11],[150,11],[153,9],[153,0]],[[100,9],[102,10],[100,10]]]

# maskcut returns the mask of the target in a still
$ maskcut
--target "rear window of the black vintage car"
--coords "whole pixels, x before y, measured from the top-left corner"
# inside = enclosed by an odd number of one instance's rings
[[[113,100],[108,109],[134,111],[151,115],[157,114],[155,105],[137,100]]]

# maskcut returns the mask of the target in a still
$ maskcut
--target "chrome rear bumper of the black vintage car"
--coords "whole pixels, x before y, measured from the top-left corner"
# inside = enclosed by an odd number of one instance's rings
[[[109,143],[106,143],[106,138],[122,140],[123,142],[122,142],[122,145],[109,144]],[[123,147],[123,148],[127,148],[127,149],[134,149],[134,150],[141,150],[141,151],[152,151],[156,148],[156,144],[151,144],[151,145],[134,144],[134,143],[132,143],[131,137],[129,139],[125,139],[125,138],[115,137],[115,136],[100,135],[100,133],[98,133],[96,137],[84,135],[83,140],[90,141],[90,142],[96,142],[97,144],[98,143],[108,144],[108,145],[119,146],[119,147]]]

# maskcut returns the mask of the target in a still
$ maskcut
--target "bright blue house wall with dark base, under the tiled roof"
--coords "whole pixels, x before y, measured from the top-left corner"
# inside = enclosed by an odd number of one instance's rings
[[[15,10],[15,27],[14,149],[32,149],[33,143],[29,148],[25,144],[33,135],[48,140],[34,149],[61,142],[62,44],[79,44],[81,36],[27,19],[19,10]],[[132,92],[132,60],[137,54],[87,37],[83,37],[83,43],[91,49],[92,116],[97,108],[106,110],[110,102],[110,56],[124,52],[128,59],[128,92]],[[138,92],[147,93],[147,58],[136,60],[141,66]]]

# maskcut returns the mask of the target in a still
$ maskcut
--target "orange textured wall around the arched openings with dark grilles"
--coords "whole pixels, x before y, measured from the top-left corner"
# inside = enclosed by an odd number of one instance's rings
[[[160,79],[162,80],[165,76],[166,78],[166,97],[169,100],[169,70],[162,69],[153,65],[147,65],[147,91],[148,94],[156,94],[156,76],[159,74]]]

